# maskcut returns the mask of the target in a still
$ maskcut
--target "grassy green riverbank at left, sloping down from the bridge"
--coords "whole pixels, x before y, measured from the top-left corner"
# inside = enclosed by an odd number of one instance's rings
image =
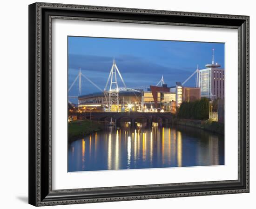
[[[68,142],[101,131],[102,125],[92,120],[76,120],[68,123]]]

